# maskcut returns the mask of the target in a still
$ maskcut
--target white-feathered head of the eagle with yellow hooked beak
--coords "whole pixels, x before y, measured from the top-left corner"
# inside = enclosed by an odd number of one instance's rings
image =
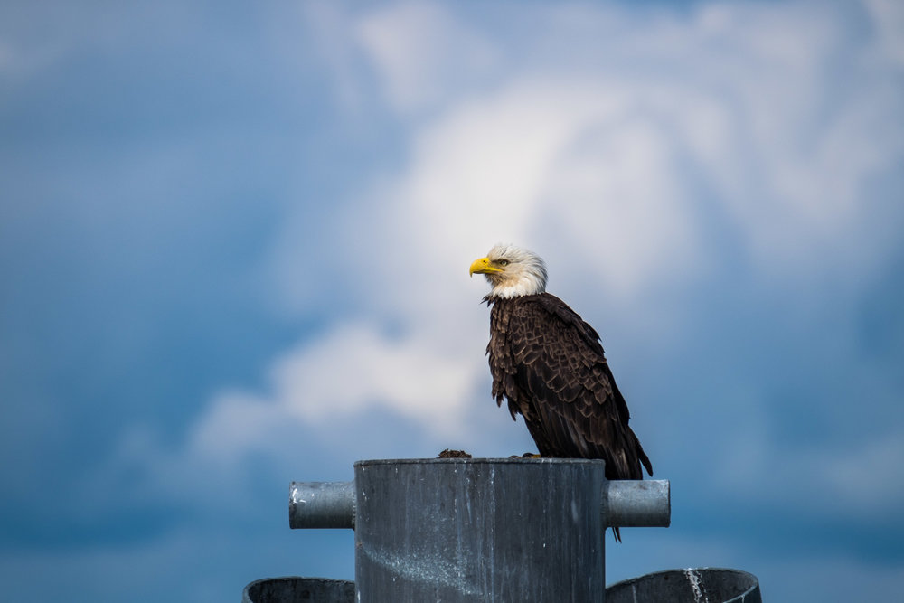
[[[533,251],[499,243],[471,264],[471,275],[482,274],[493,288],[488,299],[495,297],[532,296],[546,290],[546,264]]]

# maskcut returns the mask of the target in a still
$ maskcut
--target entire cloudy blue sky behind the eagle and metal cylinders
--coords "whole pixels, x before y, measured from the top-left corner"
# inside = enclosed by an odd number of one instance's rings
[[[602,334],[672,481],[610,582],[888,598],[901,107],[894,0],[5,3],[5,592],[351,578],[350,532],[288,530],[289,481],[532,448],[466,277],[505,240]]]

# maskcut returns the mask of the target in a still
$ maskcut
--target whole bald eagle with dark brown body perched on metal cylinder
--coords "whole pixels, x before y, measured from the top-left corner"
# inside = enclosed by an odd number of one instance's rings
[[[641,464],[652,476],[599,335],[546,293],[540,256],[499,244],[471,264],[475,273],[493,287],[484,297],[493,397],[523,416],[541,456],[605,459],[607,479],[643,479]]]

